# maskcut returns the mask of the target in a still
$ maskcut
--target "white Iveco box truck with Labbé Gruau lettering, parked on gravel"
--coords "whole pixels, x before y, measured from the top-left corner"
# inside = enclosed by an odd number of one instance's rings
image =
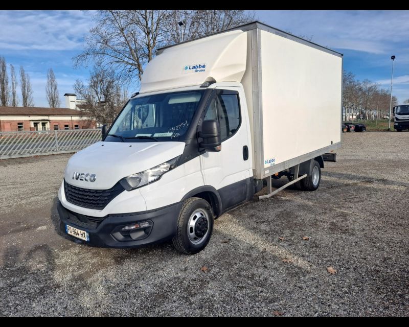
[[[102,141],[73,155],[60,227],[196,253],[214,218],[286,176],[316,190],[340,146],[342,54],[260,22],[160,49]]]

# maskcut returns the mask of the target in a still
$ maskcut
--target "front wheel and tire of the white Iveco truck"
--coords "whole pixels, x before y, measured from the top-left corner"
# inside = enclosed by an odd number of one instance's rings
[[[213,232],[214,215],[208,201],[201,198],[185,200],[177,220],[173,246],[181,253],[194,254],[208,245]]]

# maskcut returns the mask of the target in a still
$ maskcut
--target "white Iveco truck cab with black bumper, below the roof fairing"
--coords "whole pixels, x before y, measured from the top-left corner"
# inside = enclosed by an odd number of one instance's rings
[[[62,227],[86,228],[96,245],[132,247],[174,236],[185,209],[191,247],[180,249],[194,252],[209,241],[214,217],[253,197],[251,152],[240,83],[135,96],[101,142],[71,157]]]

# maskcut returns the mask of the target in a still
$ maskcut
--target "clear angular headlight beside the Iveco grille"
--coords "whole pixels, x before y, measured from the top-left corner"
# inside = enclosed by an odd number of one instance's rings
[[[153,183],[154,181],[160,179],[163,174],[175,168],[179,158],[180,155],[176,158],[164,162],[161,165],[145,170],[142,173],[133,174],[128,177],[122,178],[119,182],[126,191],[138,189],[141,186]]]

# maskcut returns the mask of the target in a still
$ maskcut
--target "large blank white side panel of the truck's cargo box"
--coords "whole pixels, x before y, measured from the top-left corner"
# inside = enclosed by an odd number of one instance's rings
[[[264,177],[275,165],[340,142],[342,57],[260,34]]]

